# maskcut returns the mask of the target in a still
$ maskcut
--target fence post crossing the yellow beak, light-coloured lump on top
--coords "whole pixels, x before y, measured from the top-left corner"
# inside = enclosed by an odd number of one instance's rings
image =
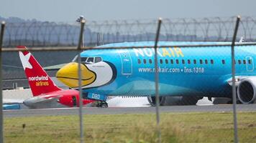
[[[83,143],[83,95],[81,88],[81,46],[83,46],[83,27],[86,23],[85,20],[81,20],[81,30],[78,41],[78,88],[79,88],[79,119],[80,119],[80,142]]]

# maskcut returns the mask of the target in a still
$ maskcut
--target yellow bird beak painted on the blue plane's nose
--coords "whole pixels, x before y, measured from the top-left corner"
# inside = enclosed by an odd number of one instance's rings
[[[56,77],[68,87],[78,87],[78,63],[71,62],[58,70]],[[88,69],[87,66],[81,64],[81,86],[91,84],[96,79],[96,74]]]

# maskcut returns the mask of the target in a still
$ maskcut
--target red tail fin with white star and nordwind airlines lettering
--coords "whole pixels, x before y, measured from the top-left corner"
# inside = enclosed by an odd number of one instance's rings
[[[26,46],[17,46],[17,48],[27,49]],[[29,51],[19,51],[19,58],[22,61],[22,66],[34,97],[40,94],[61,90],[52,82],[52,79],[50,79],[48,74],[42,69],[42,66]]]

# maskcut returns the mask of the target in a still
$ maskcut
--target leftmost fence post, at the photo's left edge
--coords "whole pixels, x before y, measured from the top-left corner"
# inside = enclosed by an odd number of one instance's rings
[[[2,91],[2,61],[1,61],[1,48],[3,45],[3,39],[4,39],[4,27],[5,27],[5,22],[1,22],[1,35],[0,35],[0,143],[4,142],[4,112],[3,112],[3,91]]]

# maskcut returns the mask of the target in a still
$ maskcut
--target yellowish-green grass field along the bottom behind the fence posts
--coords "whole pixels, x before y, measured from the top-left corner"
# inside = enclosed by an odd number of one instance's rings
[[[85,115],[85,142],[156,142],[155,114]],[[162,142],[234,142],[233,115],[161,114]],[[239,142],[256,142],[256,112],[238,114]],[[23,129],[22,124],[26,124]],[[80,142],[78,116],[4,118],[5,142]]]

